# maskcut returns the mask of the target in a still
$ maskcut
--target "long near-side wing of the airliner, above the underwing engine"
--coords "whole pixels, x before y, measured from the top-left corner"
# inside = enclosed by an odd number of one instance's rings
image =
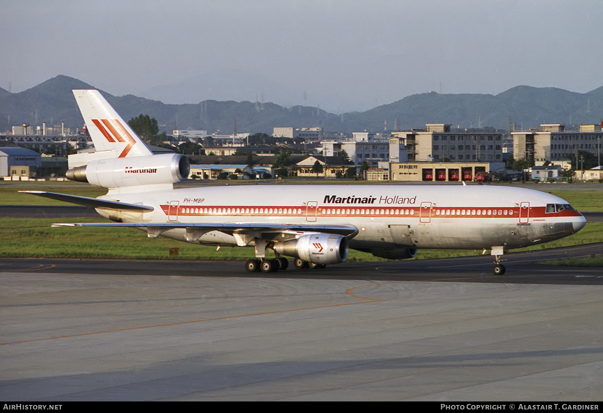
[[[186,229],[186,240],[197,241],[207,232],[219,231],[233,235],[239,246],[248,245],[254,238],[268,238],[269,234],[286,234],[294,238],[300,232],[321,232],[324,234],[343,235],[353,238],[358,234],[358,228],[353,225],[286,225],[273,223],[55,223],[60,226],[113,226],[122,228],[146,228],[150,238],[156,238],[169,229]]]

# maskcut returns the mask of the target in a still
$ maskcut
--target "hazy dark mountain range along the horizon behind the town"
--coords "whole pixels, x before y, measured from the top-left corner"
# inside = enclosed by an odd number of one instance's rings
[[[78,79],[59,75],[19,93],[0,88],[0,131],[29,123],[74,128],[83,126],[72,89],[94,89]],[[205,100],[198,104],[163,104],[133,95],[101,93],[119,114],[131,119],[139,114],[155,117],[162,131],[206,129],[230,134],[265,132],[274,126],[315,127],[326,132],[384,131],[424,128],[426,123],[450,123],[453,128],[517,129],[541,123],[566,126],[603,120],[603,87],[587,93],[554,87],[516,86],[498,95],[421,93],[364,112],[328,113],[307,106],[283,107],[273,103]],[[235,126],[236,125],[236,126]]]

